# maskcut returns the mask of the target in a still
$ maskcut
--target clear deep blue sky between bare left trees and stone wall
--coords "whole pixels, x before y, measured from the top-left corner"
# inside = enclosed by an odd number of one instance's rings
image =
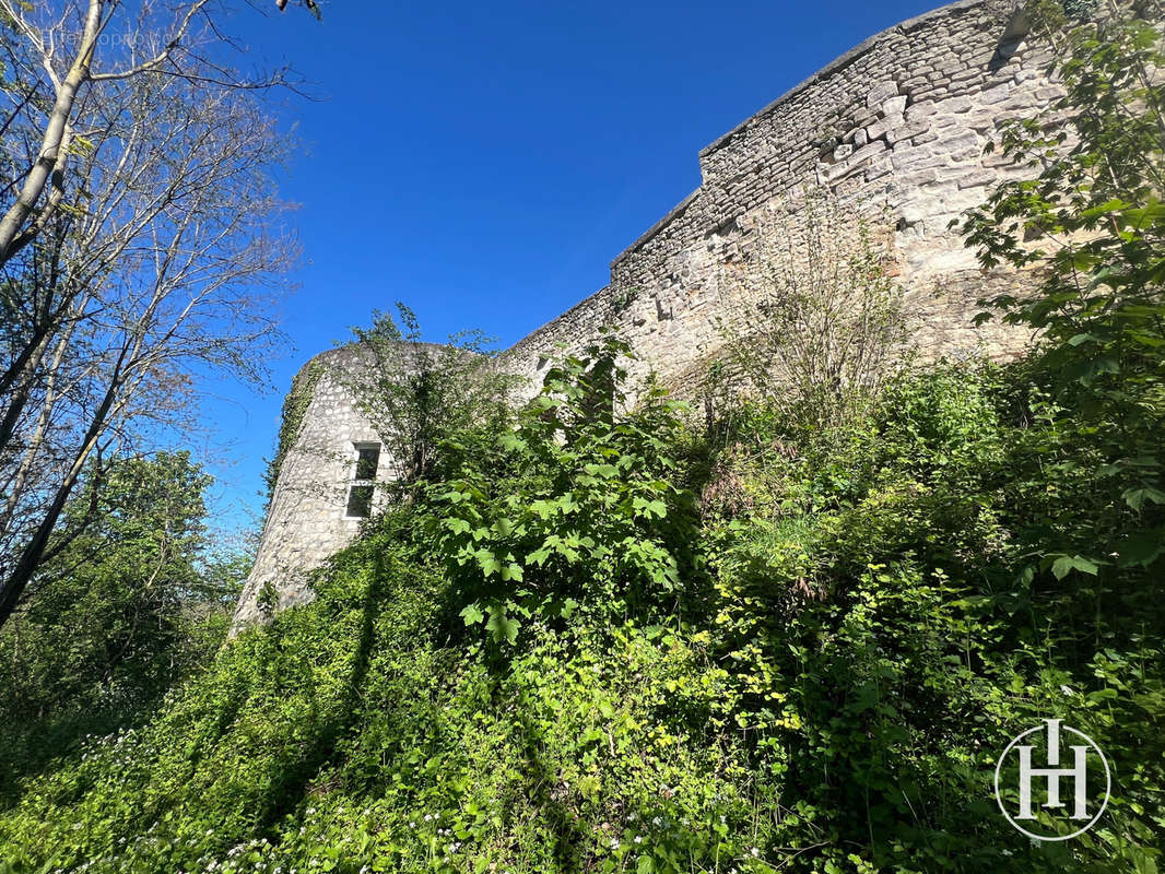
[[[606,284],[623,248],[699,185],[697,153],[878,30],[935,0],[388,3],[240,16],[303,153],[283,184],[304,249],[275,390],[209,386],[219,523],[257,521],[291,376],[412,306],[426,339],[501,347]],[[266,2],[264,7],[274,3]]]

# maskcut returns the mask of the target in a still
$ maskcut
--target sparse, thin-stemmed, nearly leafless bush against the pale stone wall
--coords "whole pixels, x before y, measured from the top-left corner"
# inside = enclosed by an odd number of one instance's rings
[[[902,357],[902,289],[888,272],[890,223],[853,214],[825,189],[757,219],[753,251],[721,282],[735,301],[712,368],[721,410],[744,389],[788,417],[838,424],[868,406]]]

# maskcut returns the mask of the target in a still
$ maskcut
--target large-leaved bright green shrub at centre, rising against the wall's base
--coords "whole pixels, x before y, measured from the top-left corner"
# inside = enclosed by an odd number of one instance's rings
[[[465,623],[516,640],[521,618],[668,609],[691,565],[694,515],[676,484],[680,406],[650,389],[623,411],[608,338],[567,357],[499,438],[495,466],[436,485],[435,529]]]

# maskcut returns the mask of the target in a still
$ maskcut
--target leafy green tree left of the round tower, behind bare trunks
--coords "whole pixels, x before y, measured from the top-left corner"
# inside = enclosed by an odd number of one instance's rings
[[[83,533],[57,544],[0,635],[9,717],[129,711],[183,672],[196,606],[221,609],[240,582],[236,557],[203,557],[210,481],[188,452],[163,452],[84,485],[65,509]]]

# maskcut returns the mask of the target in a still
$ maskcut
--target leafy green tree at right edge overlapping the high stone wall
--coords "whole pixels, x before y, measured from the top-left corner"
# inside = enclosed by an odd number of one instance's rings
[[[1090,526],[1052,513],[1036,536],[1057,577],[1096,576],[1165,555],[1162,5],[1114,3],[1069,30],[1054,2],[1030,14],[1055,44],[1066,93],[1004,129],[1004,154],[1030,175],[1001,184],[962,228],[986,267],[1039,268],[1033,292],[994,297],[981,318],[1040,332],[1038,415],[1061,449],[1085,450],[1071,464],[1088,475],[1073,479],[1096,512]]]

